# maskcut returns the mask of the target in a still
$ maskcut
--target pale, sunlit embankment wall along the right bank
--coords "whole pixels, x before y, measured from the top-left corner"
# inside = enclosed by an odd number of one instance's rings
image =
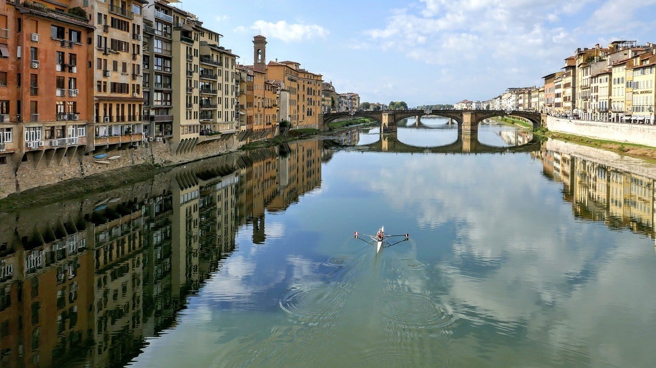
[[[656,147],[656,125],[547,117],[546,128],[551,132]]]

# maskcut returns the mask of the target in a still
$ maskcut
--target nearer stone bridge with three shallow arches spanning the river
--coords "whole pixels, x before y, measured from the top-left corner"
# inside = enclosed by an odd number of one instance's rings
[[[546,114],[533,111],[505,110],[383,110],[383,111],[350,111],[344,113],[325,113],[319,115],[319,126],[326,127],[329,122],[338,119],[371,118],[380,122],[382,132],[396,132],[400,120],[409,117],[422,116],[446,117],[458,124],[459,132],[478,132],[478,124],[493,117],[520,117],[529,120],[533,129],[546,123]]]

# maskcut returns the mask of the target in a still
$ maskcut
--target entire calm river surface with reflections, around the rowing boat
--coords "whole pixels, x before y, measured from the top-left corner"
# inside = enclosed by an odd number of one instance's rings
[[[1,366],[653,367],[656,166],[422,120],[0,218]]]

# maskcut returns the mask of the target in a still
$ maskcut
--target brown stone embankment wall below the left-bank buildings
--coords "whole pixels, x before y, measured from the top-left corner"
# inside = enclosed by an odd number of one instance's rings
[[[231,134],[225,138],[205,141],[196,145],[194,150],[178,155],[172,153],[174,148],[170,141],[153,141],[137,147],[125,147],[104,152],[108,154],[108,157],[119,156],[115,160],[94,158],[91,153],[85,155],[81,149],[77,151],[69,149],[66,151],[66,156],[64,156],[62,150],[59,153],[48,150],[43,155],[39,151],[26,155],[27,160],[20,162],[12,162],[11,160],[21,160],[20,157],[8,157],[7,164],[0,165],[0,198],[34,187],[58,183],[66,179],[86,177],[138,164],[159,164],[162,166],[182,164],[236,151],[241,145],[243,145],[243,142],[237,141],[234,134]],[[104,164],[96,161],[109,163]]]

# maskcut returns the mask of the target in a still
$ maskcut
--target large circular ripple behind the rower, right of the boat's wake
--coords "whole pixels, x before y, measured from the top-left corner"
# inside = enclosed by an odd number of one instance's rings
[[[417,293],[390,293],[382,302],[382,314],[398,327],[440,329],[455,320],[449,308]]]

